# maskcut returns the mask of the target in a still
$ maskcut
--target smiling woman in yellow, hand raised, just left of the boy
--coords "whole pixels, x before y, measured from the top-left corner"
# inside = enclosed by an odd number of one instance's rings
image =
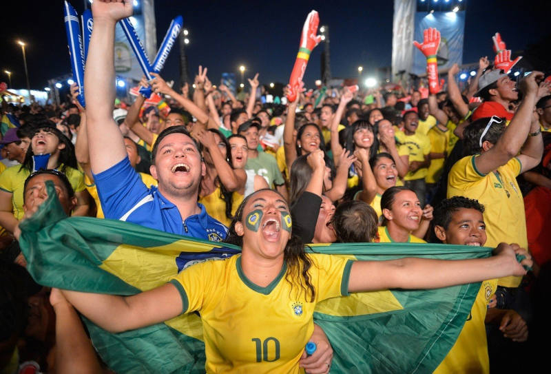
[[[384,217],[379,227],[380,242],[417,242],[433,219],[433,207],[423,210],[415,192],[407,187],[391,187],[381,197]]]

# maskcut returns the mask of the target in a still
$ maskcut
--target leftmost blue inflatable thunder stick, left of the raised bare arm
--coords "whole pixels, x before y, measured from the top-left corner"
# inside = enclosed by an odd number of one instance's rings
[[[63,20],[67,32],[67,43],[69,45],[69,56],[73,80],[79,86],[79,103],[85,107],[84,102],[84,55],[82,49],[81,25],[76,10],[65,1],[63,5]]]

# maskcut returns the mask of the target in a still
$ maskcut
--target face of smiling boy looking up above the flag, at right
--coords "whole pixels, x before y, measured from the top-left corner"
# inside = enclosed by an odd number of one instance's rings
[[[444,244],[481,247],[486,243],[486,224],[477,209],[459,208],[448,227],[436,226],[435,233]]]

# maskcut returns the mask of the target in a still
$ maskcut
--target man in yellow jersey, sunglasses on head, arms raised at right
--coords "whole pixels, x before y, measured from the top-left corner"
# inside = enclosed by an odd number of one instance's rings
[[[464,145],[471,156],[457,161],[448,176],[448,198],[465,196],[486,207],[488,247],[508,242],[528,248],[523,196],[516,177],[538,165],[543,153],[539,123],[532,116],[539,98],[550,92],[549,83],[538,86],[537,79],[542,77],[541,72],[532,72],[521,81],[524,98],[508,126],[506,118],[491,116],[466,127]],[[510,84],[504,78],[499,84]],[[508,277],[499,284],[517,287],[520,280]]]

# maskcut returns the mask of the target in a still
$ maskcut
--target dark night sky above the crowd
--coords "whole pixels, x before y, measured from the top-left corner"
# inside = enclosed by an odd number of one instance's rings
[[[72,0],[79,14],[84,1]],[[433,4],[434,0],[426,0]],[[193,4],[189,8],[189,4]],[[426,2],[423,7],[426,7]],[[457,3],[457,0],[450,0]],[[551,1],[464,0],[466,25],[464,63],[479,56],[493,56],[492,35],[499,31],[507,48],[523,50],[550,34]],[[21,47],[28,43],[30,86],[42,89],[55,76],[70,73],[62,1],[14,1],[19,12],[4,12],[2,23],[0,81],[3,70],[12,72],[12,85],[25,87]],[[439,4],[446,4],[439,0]],[[522,7],[521,7],[522,6]],[[295,61],[302,24],[308,12],[318,10],[320,24],[331,32],[331,74],[355,77],[357,66],[370,69],[391,65],[393,1],[180,1],[155,0],[158,44],[169,22],[181,14],[190,32],[187,54],[189,70],[207,66],[215,84],[222,72],[247,66],[246,77],[260,72],[260,83],[286,83]],[[13,8],[12,8],[13,9]],[[6,8],[4,8],[6,11]],[[304,76],[306,85],[320,77],[320,44],[313,51]],[[162,75],[178,80],[178,45],[173,48]],[[153,59],[153,56],[150,56]]]

